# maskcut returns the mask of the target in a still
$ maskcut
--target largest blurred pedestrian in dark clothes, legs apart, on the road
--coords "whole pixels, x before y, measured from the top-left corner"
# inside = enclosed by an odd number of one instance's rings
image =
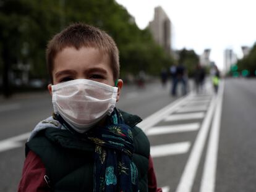
[[[175,73],[173,75],[173,87],[171,94],[173,96],[177,95],[177,86],[178,83],[182,85],[182,94],[187,94],[187,75],[186,75],[186,67],[183,64],[179,64],[176,67]]]

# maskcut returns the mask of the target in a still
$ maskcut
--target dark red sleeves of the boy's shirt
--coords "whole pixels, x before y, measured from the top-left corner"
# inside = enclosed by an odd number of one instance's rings
[[[18,191],[49,192],[45,175],[45,165],[43,165],[40,157],[33,151],[28,152],[23,165],[22,178],[20,179]],[[162,192],[161,188],[157,188],[155,170],[151,156],[148,162],[148,192]]]

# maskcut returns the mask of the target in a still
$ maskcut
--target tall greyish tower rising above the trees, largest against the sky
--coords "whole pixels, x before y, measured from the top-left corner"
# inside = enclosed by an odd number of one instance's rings
[[[149,28],[156,43],[171,54],[171,21],[162,7],[155,7],[154,19],[149,23]]]

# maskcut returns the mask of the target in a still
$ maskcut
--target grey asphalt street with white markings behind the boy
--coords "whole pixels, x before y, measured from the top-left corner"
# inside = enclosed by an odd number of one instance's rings
[[[160,83],[125,86],[117,107],[140,115],[158,186],[174,192],[256,191],[256,80],[227,79],[218,94],[173,98]],[[0,191],[17,191],[24,144],[52,113],[48,93],[0,100]]]

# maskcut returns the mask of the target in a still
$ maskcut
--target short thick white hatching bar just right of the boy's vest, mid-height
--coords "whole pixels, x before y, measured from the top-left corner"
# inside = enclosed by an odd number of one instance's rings
[[[157,146],[151,146],[150,155],[151,157],[163,157],[177,154],[184,154],[189,151],[190,142],[161,144]]]

